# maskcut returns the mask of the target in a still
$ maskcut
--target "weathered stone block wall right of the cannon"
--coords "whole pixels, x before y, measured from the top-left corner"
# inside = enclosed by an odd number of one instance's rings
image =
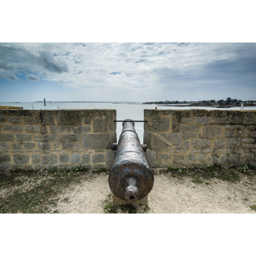
[[[151,168],[256,164],[256,111],[144,110]]]

